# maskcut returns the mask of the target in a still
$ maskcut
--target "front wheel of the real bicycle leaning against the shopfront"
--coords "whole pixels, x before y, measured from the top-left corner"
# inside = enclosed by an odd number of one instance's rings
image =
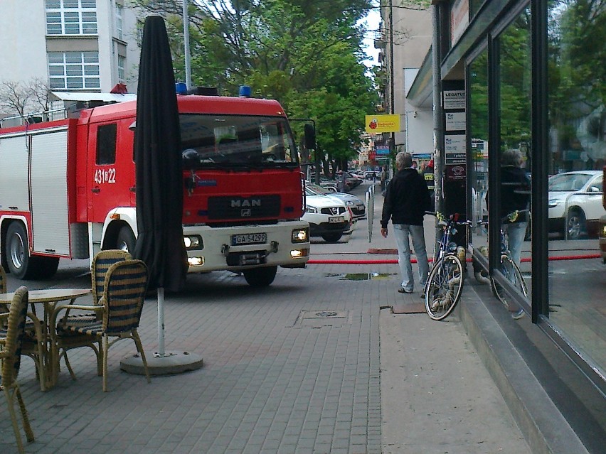
[[[433,320],[444,320],[457,306],[463,290],[463,265],[447,255],[432,268],[425,287],[425,310]]]

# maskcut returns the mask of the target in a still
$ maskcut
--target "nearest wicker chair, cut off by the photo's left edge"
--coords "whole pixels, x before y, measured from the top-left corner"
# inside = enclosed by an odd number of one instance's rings
[[[33,441],[33,431],[31,430],[27,410],[17,383],[19,365],[21,364],[21,342],[23,341],[23,335],[25,333],[27,304],[28,290],[26,287],[19,287],[15,292],[9,313],[0,314],[0,318],[6,319],[8,325],[6,342],[4,342],[4,348],[0,352],[0,358],[3,360],[2,383],[0,384],[0,389],[4,391],[6,404],[9,406],[9,414],[11,414],[11,421],[13,423],[19,453],[24,453],[25,450],[23,450],[21,431],[19,430],[15,411],[15,397],[17,398],[19,408],[21,409],[23,430],[26,433],[27,441]]]

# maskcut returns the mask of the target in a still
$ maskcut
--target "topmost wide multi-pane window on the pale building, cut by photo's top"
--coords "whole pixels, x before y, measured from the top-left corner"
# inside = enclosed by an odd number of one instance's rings
[[[48,35],[96,35],[96,0],[46,0]]]

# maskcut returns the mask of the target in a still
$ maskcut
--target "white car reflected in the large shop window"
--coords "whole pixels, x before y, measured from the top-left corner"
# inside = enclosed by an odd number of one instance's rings
[[[568,239],[597,234],[600,217],[606,215],[602,171],[558,173],[549,178],[548,190],[549,232]]]

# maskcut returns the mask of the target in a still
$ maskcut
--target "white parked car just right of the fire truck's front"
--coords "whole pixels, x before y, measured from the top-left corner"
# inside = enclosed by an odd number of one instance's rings
[[[302,219],[309,222],[309,236],[322,237],[329,243],[338,242],[353,227],[351,210],[345,202],[319,195],[305,188],[305,212]]]

